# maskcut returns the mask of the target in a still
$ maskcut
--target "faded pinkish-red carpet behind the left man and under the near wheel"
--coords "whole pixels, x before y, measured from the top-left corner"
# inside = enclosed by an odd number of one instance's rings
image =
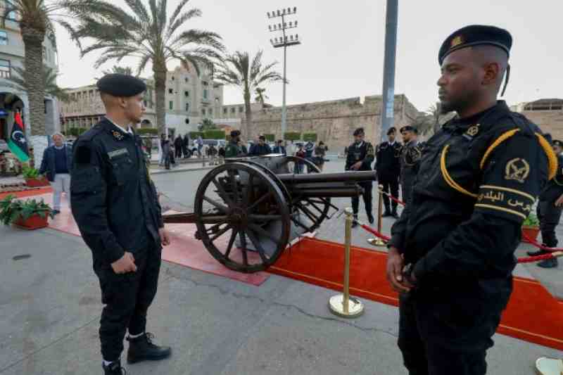
[[[34,198],[43,198],[50,205],[52,194],[43,194]],[[80,231],[68,208],[64,194],[61,213],[56,215],[53,220],[49,219],[49,228],[80,236]],[[167,262],[228,277],[229,279],[242,281],[254,286],[259,286],[270,277],[270,274],[267,272],[241,274],[221,265],[205,250],[203,243],[194,238],[194,233],[196,232],[195,224],[166,224],[166,229],[170,232],[170,240],[172,241],[169,246],[163,248],[162,258]]]

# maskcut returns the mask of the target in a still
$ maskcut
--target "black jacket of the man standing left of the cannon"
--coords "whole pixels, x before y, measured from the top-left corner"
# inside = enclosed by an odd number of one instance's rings
[[[77,139],[72,164],[72,215],[94,263],[160,247],[164,224],[139,136],[103,119]]]

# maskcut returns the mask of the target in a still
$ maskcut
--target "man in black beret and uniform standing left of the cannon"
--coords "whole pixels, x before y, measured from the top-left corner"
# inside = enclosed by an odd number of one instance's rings
[[[102,77],[97,86],[106,116],[75,142],[70,203],[101,286],[103,371],[122,374],[126,332],[127,362],[170,356],[170,348],[156,345],[146,332],[162,246],[170,238],[144,163],[141,139],[134,132],[144,113],[146,86],[120,74]]]

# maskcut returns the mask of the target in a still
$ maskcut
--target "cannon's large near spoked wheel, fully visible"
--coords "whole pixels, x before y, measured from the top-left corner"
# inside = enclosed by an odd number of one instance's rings
[[[204,202],[211,210],[205,210]],[[228,163],[210,170],[198,186],[194,213],[205,248],[238,272],[267,269],[289,242],[289,203],[279,186],[253,165]],[[240,246],[235,246],[237,239]]]

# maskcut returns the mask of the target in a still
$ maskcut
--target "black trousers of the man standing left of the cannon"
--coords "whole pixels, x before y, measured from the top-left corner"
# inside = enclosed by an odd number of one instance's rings
[[[145,331],[146,312],[156,295],[161,253],[160,246],[134,253],[137,272],[127,274],[115,274],[110,265],[94,266],[105,305],[100,320],[103,360],[120,358],[127,330],[131,335]]]

